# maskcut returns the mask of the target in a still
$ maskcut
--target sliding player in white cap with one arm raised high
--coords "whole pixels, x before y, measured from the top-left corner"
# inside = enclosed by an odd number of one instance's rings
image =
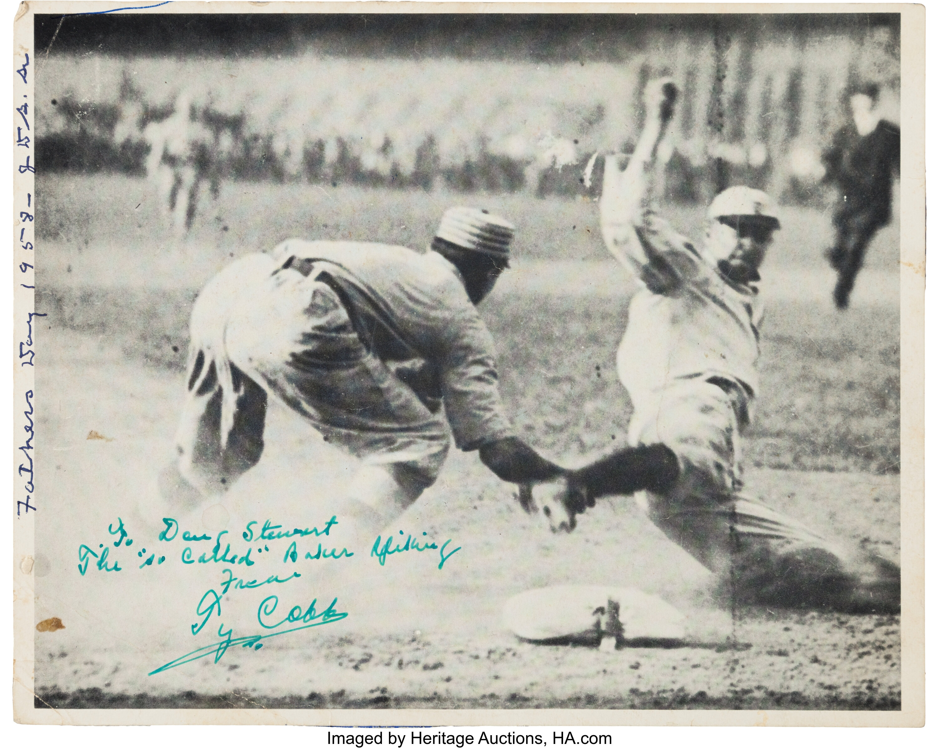
[[[735,603],[894,611],[900,571],[846,550],[742,493],[740,433],[758,389],[757,283],[779,227],[762,191],[731,187],[708,208],[700,246],[657,212],[657,159],[677,89],[653,82],[623,172],[607,160],[600,216],[610,252],[639,277],[617,354],[635,413],[629,447],[523,489],[530,511],[570,531],[600,496],[636,493],[671,541],[716,572]]]

